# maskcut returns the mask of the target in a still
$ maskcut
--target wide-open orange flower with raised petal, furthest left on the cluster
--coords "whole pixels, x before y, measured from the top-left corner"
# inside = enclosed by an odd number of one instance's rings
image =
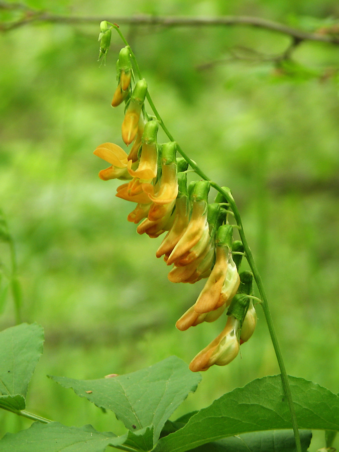
[[[95,149],[93,154],[111,164],[110,167],[99,172],[100,179],[132,178],[127,170],[127,154],[120,146],[114,143],[103,143]]]

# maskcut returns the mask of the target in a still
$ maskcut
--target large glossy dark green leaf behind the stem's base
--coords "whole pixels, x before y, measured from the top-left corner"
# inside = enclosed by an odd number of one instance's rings
[[[338,430],[337,395],[302,378],[289,377],[289,382],[299,428]],[[227,436],[291,427],[281,377],[264,377],[198,411],[183,428],[160,439],[155,450],[184,452]]]

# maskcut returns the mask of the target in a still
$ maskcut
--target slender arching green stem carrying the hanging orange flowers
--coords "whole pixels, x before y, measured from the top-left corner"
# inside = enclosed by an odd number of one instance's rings
[[[120,31],[120,29],[113,25],[113,27],[117,30],[117,32],[119,33],[120,37],[122,38],[122,40],[124,41],[124,43],[129,47],[130,52],[131,52],[131,58],[135,63],[135,67],[136,67],[136,71],[137,74],[139,76],[140,79],[142,79],[142,75],[141,75],[141,71],[137,62],[137,59],[131,49],[131,47],[129,46],[128,42],[126,41],[125,37],[123,36],[122,32]],[[165,126],[161,116],[159,115],[158,110],[156,109],[153,100],[150,96],[150,93],[147,91],[146,94],[146,98],[150,104],[150,107],[152,108],[154,115],[156,117],[156,119],[158,120],[161,128],[163,129],[163,131],[165,132],[165,134],[167,135],[167,137],[171,140],[171,141],[175,141],[172,134],[169,132],[169,130],[167,129],[167,127]],[[299,431],[298,431],[298,424],[297,424],[297,418],[296,418],[296,414],[295,414],[295,410],[294,410],[294,406],[293,406],[293,401],[292,401],[292,394],[291,394],[291,388],[289,385],[289,381],[288,381],[288,376],[287,376],[287,372],[285,369],[285,365],[284,365],[284,361],[283,361],[283,357],[280,351],[280,347],[279,347],[279,343],[278,343],[278,338],[274,329],[274,325],[273,325],[273,320],[271,317],[271,313],[269,310],[269,306],[268,306],[268,301],[267,301],[267,297],[266,297],[266,293],[264,290],[264,286],[259,274],[259,271],[257,269],[257,266],[254,262],[253,259],[253,255],[252,255],[252,251],[247,243],[246,240],[246,236],[244,233],[244,228],[243,228],[243,224],[242,224],[242,220],[241,220],[241,216],[237,207],[237,204],[232,196],[231,190],[228,189],[222,189],[217,183],[213,182],[212,180],[210,180],[210,178],[198,167],[198,165],[191,160],[188,155],[181,149],[181,147],[177,144],[177,150],[179,152],[179,154],[186,160],[186,162],[190,165],[190,167],[195,171],[195,173],[200,176],[202,179],[207,180],[211,187],[213,187],[216,191],[218,191],[219,193],[221,193],[229,202],[230,207],[234,213],[234,217],[236,219],[237,222],[237,226],[239,228],[239,235],[240,238],[243,242],[244,245],[244,249],[245,249],[245,254],[246,254],[246,259],[250,265],[250,268],[252,270],[253,273],[253,277],[256,281],[256,284],[258,286],[258,290],[261,296],[261,306],[263,308],[264,311],[264,315],[265,315],[265,319],[266,319],[266,323],[268,326],[268,330],[270,333],[270,337],[271,337],[271,341],[273,344],[273,348],[274,348],[274,352],[278,361],[278,365],[279,365],[279,369],[280,369],[280,373],[281,373],[281,380],[282,380],[282,386],[287,398],[287,402],[289,405],[289,409],[290,409],[290,414],[291,414],[291,420],[292,420],[292,427],[293,427],[293,431],[294,431],[294,437],[295,437],[295,443],[296,443],[296,450],[297,452],[302,452],[301,450],[301,442],[300,442],[300,436],[299,436]]]

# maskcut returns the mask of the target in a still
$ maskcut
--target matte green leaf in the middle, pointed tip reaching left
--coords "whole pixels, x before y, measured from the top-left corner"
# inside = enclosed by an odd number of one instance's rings
[[[187,364],[172,356],[154,366],[99,380],[51,377],[80,397],[116,413],[130,430],[154,425],[154,441],[173,411],[195,391],[201,377]]]

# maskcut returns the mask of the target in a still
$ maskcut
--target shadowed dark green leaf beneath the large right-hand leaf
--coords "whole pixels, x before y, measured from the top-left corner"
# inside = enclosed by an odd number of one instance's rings
[[[302,452],[307,452],[312,433],[300,431]],[[293,430],[270,430],[244,433],[191,449],[194,452],[296,452]]]

